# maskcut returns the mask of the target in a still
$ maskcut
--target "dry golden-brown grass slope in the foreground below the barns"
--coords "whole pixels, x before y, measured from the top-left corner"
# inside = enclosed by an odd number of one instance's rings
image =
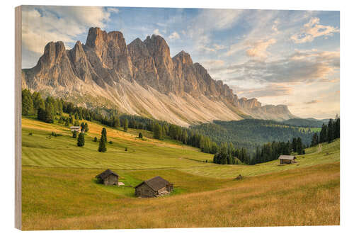
[[[59,181],[72,178],[70,172],[52,172],[58,179],[54,184],[68,192],[59,199],[55,185],[25,181],[23,230],[339,225],[339,166],[292,169],[229,181],[211,191],[150,199],[117,198],[90,186],[79,190]],[[51,188],[52,194],[45,192]],[[63,213],[75,207],[80,210]]]

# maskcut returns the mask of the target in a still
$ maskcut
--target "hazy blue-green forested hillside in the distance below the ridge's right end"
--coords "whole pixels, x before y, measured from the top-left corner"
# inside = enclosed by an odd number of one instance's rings
[[[217,143],[232,142],[236,147],[256,150],[266,142],[287,142],[301,137],[304,145],[309,145],[312,132],[292,125],[284,125],[273,120],[215,120],[213,123],[193,125],[190,129],[210,137]]]

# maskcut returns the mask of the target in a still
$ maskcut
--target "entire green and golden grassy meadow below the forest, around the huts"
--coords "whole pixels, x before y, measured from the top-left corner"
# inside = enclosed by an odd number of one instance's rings
[[[88,123],[77,147],[64,125],[22,119],[23,230],[339,224],[339,140],[307,149],[297,164],[218,165],[212,154],[144,130],[105,127],[113,144],[101,153],[93,138],[103,125]],[[107,168],[125,186],[97,184]],[[175,191],[135,198],[134,186],[156,175]]]

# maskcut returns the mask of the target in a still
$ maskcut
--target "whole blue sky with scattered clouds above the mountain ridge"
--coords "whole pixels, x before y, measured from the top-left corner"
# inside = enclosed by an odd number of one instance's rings
[[[284,104],[301,118],[339,114],[339,11],[24,6],[23,68],[50,41],[86,43],[90,27],[119,30],[126,43],[161,35],[239,98]]]

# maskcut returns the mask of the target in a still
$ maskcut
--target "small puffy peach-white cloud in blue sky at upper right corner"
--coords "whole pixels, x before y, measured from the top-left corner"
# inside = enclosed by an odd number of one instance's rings
[[[291,39],[295,43],[307,43],[312,42],[314,38],[321,36],[332,36],[333,33],[338,33],[339,29],[333,26],[323,26],[319,24],[319,18],[312,17],[308,23],[304,24],[304,27],[295,35],[292,35]]]

